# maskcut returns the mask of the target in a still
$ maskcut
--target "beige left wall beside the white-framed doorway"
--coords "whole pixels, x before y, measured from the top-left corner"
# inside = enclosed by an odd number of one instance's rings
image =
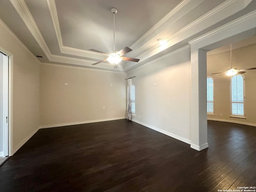
[[[3,25],[1,23],[1,25]],[[40,126],[40,62],[0,28],[0,50],[11,56],[12,68],[12,149],[15,150]]]

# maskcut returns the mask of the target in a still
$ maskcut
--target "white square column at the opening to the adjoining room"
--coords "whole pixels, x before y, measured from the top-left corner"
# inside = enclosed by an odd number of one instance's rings
[[[198,151],[208,148],[206,51],[191,46],[191,145]]]

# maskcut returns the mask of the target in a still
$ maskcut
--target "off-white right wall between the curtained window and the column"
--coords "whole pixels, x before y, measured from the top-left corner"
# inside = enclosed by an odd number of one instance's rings
[[[190,142],[189,46],[127,73],[127,78],[132,76],[136,76],[134,120]]]

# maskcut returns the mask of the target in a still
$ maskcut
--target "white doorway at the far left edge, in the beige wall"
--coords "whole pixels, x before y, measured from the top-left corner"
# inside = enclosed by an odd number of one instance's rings
[[[9,57],[0,52],[0,162],[8,156]]]

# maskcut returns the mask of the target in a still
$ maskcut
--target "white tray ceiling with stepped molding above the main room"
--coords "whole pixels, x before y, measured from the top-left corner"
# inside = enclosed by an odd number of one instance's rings
[[[133,49],[116,71],[128,71],[176,50],[206,32],[256,10],[255,0],[3,0],[0,18],[41,62],[113,70],[90,51]],[[164,38],[160,45],[156,40]]]

